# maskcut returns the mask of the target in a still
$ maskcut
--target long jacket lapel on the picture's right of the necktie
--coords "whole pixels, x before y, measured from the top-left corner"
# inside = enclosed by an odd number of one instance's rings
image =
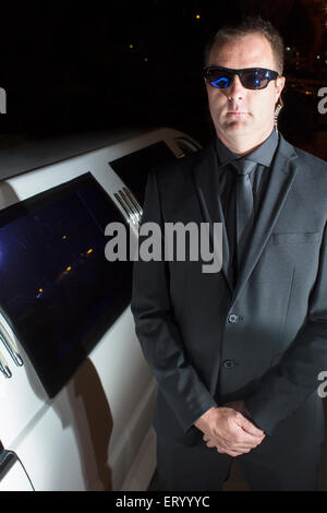
[[[243,266],[240,270],[233,291],[232,305],[254,270],[276,224],[298,171],[296,158],[293,146],[280,134],[279,145],[269,171],[271,176],[262,208],[257,215],[252,240],[244,255]]]

